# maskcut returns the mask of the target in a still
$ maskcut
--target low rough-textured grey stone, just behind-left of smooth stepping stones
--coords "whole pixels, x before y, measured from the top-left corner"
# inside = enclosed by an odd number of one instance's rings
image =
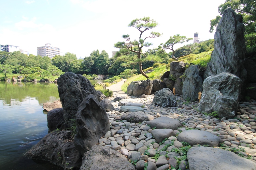
[[[126,112],[125,114],[123,114],[121,116],[122,120],[127,120],[128,122],[143,122],[143,121],[149,121],[149,120],[153,120],[154,116],[150,115],[150,114],[145,114],[144,112]]]

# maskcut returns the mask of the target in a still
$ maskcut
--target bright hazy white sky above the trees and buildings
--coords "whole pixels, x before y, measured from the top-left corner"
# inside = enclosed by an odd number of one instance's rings
[[[225,0],[6,0],[0,7],[0,44],[18,46],[37,55],[37,47],[50,43],[77,58],[90,56],[94,50],[105,50],[109,57],[118,51],[114,44],[139,38],[140,32],[128,24],[136,18],[150,17],[159,25],[151,31],[161,37],[148,38],[150,49],[180,34],[199,40],[214,38],[210,20],[218,14]],[[127,42],[126,42],[127,43]],[[187,44],[193,43],[190,40]],[[174,49],[182,47],[174,46]],[[147,48],[143,48],[144,51]]]

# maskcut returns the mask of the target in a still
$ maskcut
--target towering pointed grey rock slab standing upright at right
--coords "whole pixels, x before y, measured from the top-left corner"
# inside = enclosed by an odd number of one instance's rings
[[[211,61],[204,72],[204,78],[222,72],[237,75],[243,82],[246,79],[245,39],[242,16],[228,8],[223,12],[214,34],[214,50]]]

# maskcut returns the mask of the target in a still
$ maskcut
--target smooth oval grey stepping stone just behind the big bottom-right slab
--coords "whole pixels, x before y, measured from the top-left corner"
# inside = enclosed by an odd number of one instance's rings
[[[210,147],[217,147],[223,140],[207,131],[188,130],[183,131],[177,136],[180,142],[188,142],[189,145],[209,145]]]

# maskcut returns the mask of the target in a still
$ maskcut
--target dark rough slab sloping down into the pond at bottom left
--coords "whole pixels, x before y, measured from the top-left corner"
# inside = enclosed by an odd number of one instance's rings
[[[71,131],[53,131],[25,153],[32,159],[41,159],[64,169],[79,169],[82,155],[70,140]]]

